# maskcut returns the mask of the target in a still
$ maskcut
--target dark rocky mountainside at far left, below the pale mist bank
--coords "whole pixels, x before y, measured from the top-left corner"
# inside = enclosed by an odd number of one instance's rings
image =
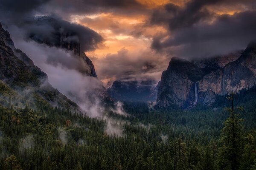
[[[47,74],[35,66],[26,54],[15,48],[8,31],[1,24],[0,87],[0,102],[3,105],[12,102],[9,104],[24,107],[27,104],[35,106],[36,102],[43,102],[45,105],[80,111],[76,103],[52,88]]]

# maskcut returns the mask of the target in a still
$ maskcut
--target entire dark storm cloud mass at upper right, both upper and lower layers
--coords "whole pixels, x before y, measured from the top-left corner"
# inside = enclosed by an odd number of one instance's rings
[[[253,3],[244,1],[244,6]],[[242,1],[232,1],[236,5]],[[256,11],[243,11],[233,15],[218,15],[209,12],[206,6],[228,6],[230,0],[193,0],[180,8],[166,5],[166,11],[159,16],[154,13],[154,21],[169,26],[169,35],[154,37],[151,48],[157,51],[168,51],[180,57],[209,57],[216,54],[225,54],[230,51],[243,49],[246,45],[256,40]],[[234,5],[233,4],[233,5]],[[170,6],[169,8],[167,6]],[[158,20],[169,14],[169,18]],[[206,19],[212,19],[212,22]]]

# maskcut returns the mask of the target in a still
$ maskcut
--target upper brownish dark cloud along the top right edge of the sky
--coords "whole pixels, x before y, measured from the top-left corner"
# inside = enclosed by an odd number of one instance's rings
[[[166,24],[171,31],[179,28],[187,28],[194,24],[215,17],[206,7],[228,8],[230,6],[244,6],[255,8],[253,0],[190,0],[185,6],[180,7],[173,3],[167,3],[162,8],[155,10],[151,17],[151,24]]]

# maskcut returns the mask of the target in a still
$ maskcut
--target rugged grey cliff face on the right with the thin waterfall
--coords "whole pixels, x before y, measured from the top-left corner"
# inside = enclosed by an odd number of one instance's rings
[[[256,43],[244,51],[192,62],[172,58],[163,71],[157,107],[211,105],[216,96],[238,93],[256,82]]]

